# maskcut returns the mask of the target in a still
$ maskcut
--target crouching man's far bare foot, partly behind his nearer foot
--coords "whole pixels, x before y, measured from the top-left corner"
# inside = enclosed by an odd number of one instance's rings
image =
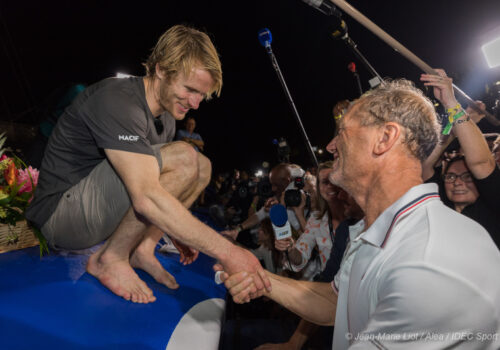
[[[154,253],[140,244],[130,257],[130,265],[149,273],[158,283],[164,284],[170,289],[177,289],[179,285],[172,276],[163,268]]]

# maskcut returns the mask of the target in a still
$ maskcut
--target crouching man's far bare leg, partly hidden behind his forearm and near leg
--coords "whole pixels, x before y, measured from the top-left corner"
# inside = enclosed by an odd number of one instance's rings
[[[199,169],[197,181],[191,188],[179,194],[178,197],[186,208],[189,208],[191,204],[193,204],[199,193],[203,191],[210,181],[210,161],[201,154],[198,154],[197,161]],[[167,174],[169,173],[163,173],[160,176],[160,182],[167,191],[172,193],[170,188],[175,186],[176,180],[174,179],[172,181],[172,177]],[[163,232],[160,229],[150,225],[144,239],[132,253],[130,257],[130,264],[135,268],[139,268],[149,273],[158,283],[162,283],[168,288],[176,289],[179,288],[179,285],[175,281],[175,278],[163,268],[154,255],[156,244],[162,236]]]

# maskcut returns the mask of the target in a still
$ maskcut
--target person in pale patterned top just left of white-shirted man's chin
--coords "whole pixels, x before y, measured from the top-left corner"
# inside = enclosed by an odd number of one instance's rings
[[[276,249],[288,252],[289,268],[292,271],[302,270],[311,259],[313,250],[317,248],[320,265],[314,271],[313,276],[321,272],[330,257],[335,230],[344,220],[344,202],[337,197],[340,188],[328,180],[332,165],[332,161],[319,165],[317,178],[319,195],[315,196],[317,203],[315,211],[307,221],[304,233],[296,243],[293,238],[275,241]]]

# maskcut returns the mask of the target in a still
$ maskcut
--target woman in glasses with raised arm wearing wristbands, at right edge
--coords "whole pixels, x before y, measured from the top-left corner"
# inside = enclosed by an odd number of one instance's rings
[[[441,198],[453,209],[481,224],[500,247],[500,170],[476,125],[484,113],[471,107],[464,110],[453,94],[452,79],[442,69],[436,69],[436,72],[438,75],[422,74],[421,80],[426,86],[433,87],[435,97],[446,108],[449,123],[444,130],[448,130],[449,136],[443,131],[442,141],[422,165],[422,177],[427,182],[441,181],[433,165],[456,137],[463,157],[455,157],[445,165],[445,191],[440,191]],[[480,110],[486,108],[480,102],[478,105]]]

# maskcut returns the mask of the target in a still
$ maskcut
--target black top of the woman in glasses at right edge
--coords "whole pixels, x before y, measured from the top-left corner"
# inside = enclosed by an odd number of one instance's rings
[[[443,202],[450,208],[454,209],[452,202],[446,197],[444,183],[439,176],[441,172],[436,171],[426,182],[436,182],[439,185],[439,195]],[[493,241],[500,249],[500,170],[495,167],[493,172],[484,179],[474,179],[479,197],[477,200],[466,206],[462,210],[462,214],[478,222],[489,232]]]

